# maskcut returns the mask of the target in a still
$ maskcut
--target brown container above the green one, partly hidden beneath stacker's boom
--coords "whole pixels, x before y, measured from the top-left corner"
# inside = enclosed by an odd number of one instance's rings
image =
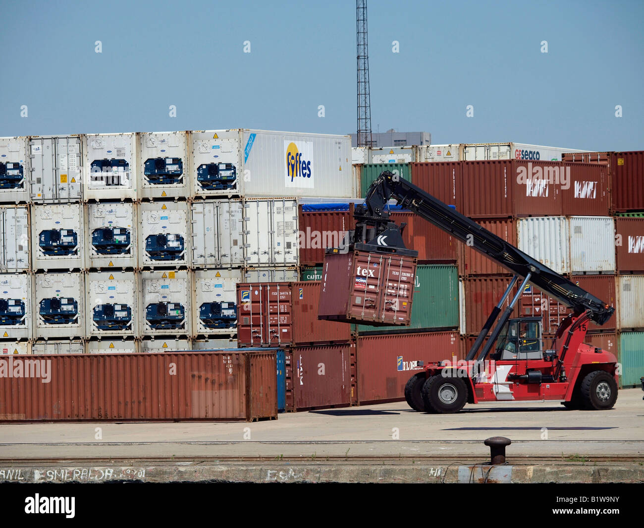
[[[390,214],[392,222],[400,225],[406,222],[403,242],[406,248],[418,251],[418,262],[440,261],[455,262],[458,257],[459,240],[450,233],[437,228],[431,222],[412,213],[397,211]]]

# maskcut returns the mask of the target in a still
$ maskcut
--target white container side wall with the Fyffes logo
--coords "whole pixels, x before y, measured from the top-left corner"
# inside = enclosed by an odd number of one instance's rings
[[[249,197],[355,197],[348,135],[244,129],[241,146]]]

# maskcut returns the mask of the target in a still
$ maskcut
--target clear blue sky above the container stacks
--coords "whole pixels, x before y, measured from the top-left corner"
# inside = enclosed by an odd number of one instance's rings
[[[2,136],[355,132],[353,0],[2,0],[0,16]],[[369,0],[368,21],[374,132],[644,149],[641,1]]]

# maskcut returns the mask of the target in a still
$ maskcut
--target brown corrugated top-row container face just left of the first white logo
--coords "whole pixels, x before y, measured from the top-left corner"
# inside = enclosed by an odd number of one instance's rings
[[[462,212],[470,218],[511,217],[516,175],[512,161],[464,161]]]

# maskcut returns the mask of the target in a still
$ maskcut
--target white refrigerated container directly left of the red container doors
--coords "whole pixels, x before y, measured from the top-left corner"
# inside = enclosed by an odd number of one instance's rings
[[[198,270],[193,280],[193,335],[236,332],[237,284],[242,282],[242,270]]]

